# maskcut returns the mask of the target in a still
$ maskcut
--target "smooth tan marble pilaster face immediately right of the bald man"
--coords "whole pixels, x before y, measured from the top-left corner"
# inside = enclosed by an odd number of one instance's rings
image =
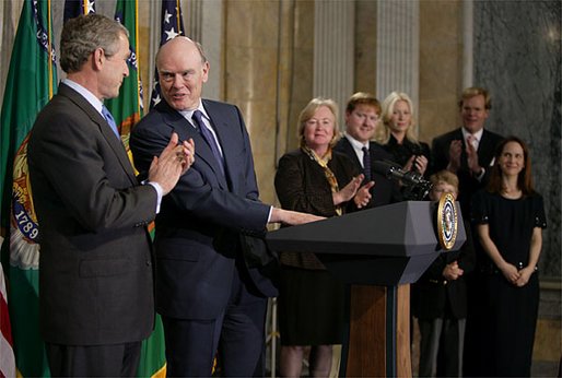
[[[272,203],[280,2],[239,0],[225,2],[224,7],[225,101],[242,110],[251,140],[260,198]]]

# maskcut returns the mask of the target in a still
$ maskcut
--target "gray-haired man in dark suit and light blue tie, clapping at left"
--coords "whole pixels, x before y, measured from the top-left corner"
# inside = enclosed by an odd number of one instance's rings
[[[54,377],[134,377],[154,327],[147,225],[191,165],[194,145],[173,135],[140,185],[103,105],[129,75],[127,29],[79,16],[65,25],[60,49],[67,79],[37,116],[27,150],[40,330]]]

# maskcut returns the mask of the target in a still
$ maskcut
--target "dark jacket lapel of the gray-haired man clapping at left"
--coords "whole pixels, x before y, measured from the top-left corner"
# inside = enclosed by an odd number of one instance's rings
[[[137,185],[138,180],[134,176],[134,172],[132,170],[132,165],[129,160],[129,156],[127,155],[127,151],[125,150],[122,142],[115,135],[114,131],[112,130],[112,127],[107,125],[105,118],[92,106],[92,104],[90,104],[82,95],[72,90],[70,86],[60,84],[58,93],[70,98],[78,107],[80,107],[85,113],[85,115],[92,120],[92,122],[97,125],[97,127],[99,128],[99,132],[105,138],[105,140],[114,151],[115,155],[117,156],[119,164],[129,176],[131,184]]]

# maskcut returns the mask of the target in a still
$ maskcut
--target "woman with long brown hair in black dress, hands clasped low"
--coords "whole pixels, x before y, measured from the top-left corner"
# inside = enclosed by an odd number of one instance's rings
[[[532,189],[529,152],[510,137],[497,146],[485,190],[472,199],[483,249],[480,376],[529,377],[539,306],[537,264],[546,228],[542,197]]]

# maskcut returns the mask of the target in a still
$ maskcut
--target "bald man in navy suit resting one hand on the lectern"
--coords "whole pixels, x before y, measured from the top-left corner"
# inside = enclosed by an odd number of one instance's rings
[[[267,274],[274,261],[259,237],[267,223],[318,217],[259,201],[239,109],[201,99],[209,62],[199,44],[167,42],[156,68],[164,101],[132,131],[137,168],[145,172],[173,132],[197,146],[191,169],[156,217],[156,309],[167,374],[210,377],[216,355],[223,376],[262,376],[267,298],[277,290]]]

